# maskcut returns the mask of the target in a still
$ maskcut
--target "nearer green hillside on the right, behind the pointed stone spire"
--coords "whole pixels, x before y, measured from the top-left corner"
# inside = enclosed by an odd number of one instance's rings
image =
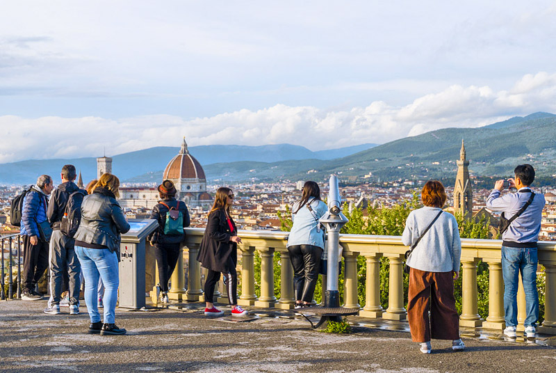
[[[475,175],[509,176],[517,164],[530,163],[537,175],[556,174],[556,116],[534,113],[479,128],[446,128],[401,138],[347,157],[322,161],[243,162],[206,166],[207,177],[223,181],[325,180],[341,178],[395,180],[441,178],[455,175],[461,139],[464,139],[470,170]],[[224,170],[233,172],[224,172]]]

